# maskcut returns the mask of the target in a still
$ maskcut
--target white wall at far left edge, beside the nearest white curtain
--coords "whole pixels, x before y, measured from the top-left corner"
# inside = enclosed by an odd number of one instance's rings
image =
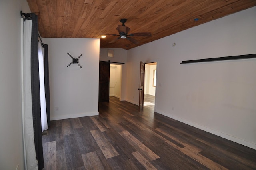
[[[0,169],[24,170],[21,105],[20,10],[26,0],[0,2]]]

